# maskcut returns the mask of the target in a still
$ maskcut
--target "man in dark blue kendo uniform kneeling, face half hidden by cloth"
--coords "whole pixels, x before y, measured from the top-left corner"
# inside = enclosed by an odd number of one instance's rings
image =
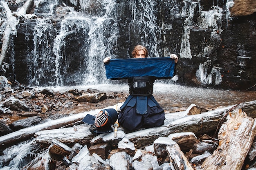
[[[148,57],[148,50],[144,46],[137,45],[132,51],[132,57],[146,58]],[[174,60],[176,65],[177,55],[171,54],[170,58]],[[110,57],[103,60],[104,63],[109,61]],[[128,130],[162,126],[165,119],[164,109],[159,106],[153,97],[154,82],[156,79],[162,79],[162,77],[136,76],[127,79],[130,95],[120,107],[121,111],[118,116],[120,126]]]

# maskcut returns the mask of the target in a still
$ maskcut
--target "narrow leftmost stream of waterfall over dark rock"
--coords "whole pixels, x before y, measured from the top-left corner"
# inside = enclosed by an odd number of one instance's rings
[[[27,57],[29,84],[39,86],[42,82],[49,85],[54,85],[57,75],[53,69],[56,65],[55,56],[52,54],[49,46],[50,39],[53,39],[49,29],[53,27],[49,24],[48,19],[36,20],[36,25],[33,33],[33,49],[28,48],[29,55]],[[55,75],[55,77],[48,77]],[[52,81],[53,80],[53,81]]]

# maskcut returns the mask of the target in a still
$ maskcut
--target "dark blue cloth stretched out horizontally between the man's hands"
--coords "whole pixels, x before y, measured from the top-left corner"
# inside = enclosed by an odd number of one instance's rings
[[[110,59],[105,63],[108,79],[136,76],[173,77],[175,62],[170,57]]]

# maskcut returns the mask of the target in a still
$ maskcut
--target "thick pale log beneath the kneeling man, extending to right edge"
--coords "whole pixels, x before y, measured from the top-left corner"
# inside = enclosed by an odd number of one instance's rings
[[[152,144],[158,137],[168,136],[171,133],[193,132],[195,135],[208,133],[216,130],[218,122],[225,115],[225,112],[234,106],[219,108],[199,115],[186,116],[184,112],[169,113],[166,114],[163,126],[127,133],[126,137],[135,144],[136,148],[142,148]],[[256,107],[256,101],[246,102],[238,107],[244,109]],[[75,128],[38,131],[35,137],[36,142],[44,144],[50,144],[52,139],[56,139],[64,144],[71,142],[88,144],[94,136],[89,132],[88,127],[86,128],[84,125],[81,125]]]

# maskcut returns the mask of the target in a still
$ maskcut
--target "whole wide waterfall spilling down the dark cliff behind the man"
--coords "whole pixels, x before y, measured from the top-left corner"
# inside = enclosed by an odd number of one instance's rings
[[[6,75],[18,77],[18,82],[30,86],[116,83],[106,79],[103,59],[130,57],[138,44],[146,46],[149,57],[177,54],[184,62],[180,62],[180,66],[186,67],[183,70],[177,67],[179,76],[191,68],[193,75],[189,77],[198,79],[195,84],[214,82],[214,79],[201,81],[202,74],[194,74],[203,70],[207,75],[216,76],[214,69],[222,70],[216,58],[221,51],[222,33],[227,33],[223,29],[230,19],[228,9],[234,4],[232,0],[227,3],[200,0],[34,2],[34,13],[31,18],[21,18],[17,25],[18,38],[14,38],[15,64],[22,66],[11,67],[9,72],[6,69]],[[209,61],[210,65],[204,64]],[[199,71],[200,64],[207,68]],[[187,79],[179,77],[178,82]],[[218,81],[221,79],[218,77]]]

